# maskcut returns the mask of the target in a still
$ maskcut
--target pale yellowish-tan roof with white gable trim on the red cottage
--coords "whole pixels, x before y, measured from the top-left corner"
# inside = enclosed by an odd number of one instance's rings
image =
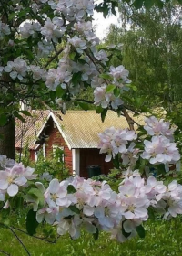
[[[42,129],[37,134],[40,137],[47,121],[52,118],[56,127],[66,141],[69,149],[72,148],[97,148],[99,138],[98,133],[102,133],[111,126],[115,128],[128,128],[128,123],[124,116],[118,117],[116,112],[108,111],[105,122],[101,121],[101,117],[96,111],[67,111],[65,115],[61,115],[62,120],[57,114],[50,112]],[[132,112],[130,115],[133,116]],[[133,117],[136,123],[144,124],[144,116]],[[136,127],[135,127],[136,128]]]

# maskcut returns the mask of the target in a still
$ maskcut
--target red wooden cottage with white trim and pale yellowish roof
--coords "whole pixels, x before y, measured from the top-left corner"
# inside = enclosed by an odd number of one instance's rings
[[[65,165],[78,176],[87,177],[86,168],[90,165],[99,165],[102,174],[107,174],[113,167],[112,163],[105,162],[106,155],[99,154],[97,134],[111,126],[128,127],[125,117],[109,111],[102,123],[96,111],[68,111],[66,115],[58,111],[45,112],[44,116],[45,122],[31,143],[32,159],[36,160],[40,148],[45,157],[50,157],[59,147],[64,150]]]

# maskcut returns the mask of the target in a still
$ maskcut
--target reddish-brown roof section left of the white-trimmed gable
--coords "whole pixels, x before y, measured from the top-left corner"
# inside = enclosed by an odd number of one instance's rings
[[[32,110],[32,116],[25,116],[25,123],[15,119],[15,148],[20,149],[28,145],[29,149],[35,149],[35,138],[44,125],[50,111]]]

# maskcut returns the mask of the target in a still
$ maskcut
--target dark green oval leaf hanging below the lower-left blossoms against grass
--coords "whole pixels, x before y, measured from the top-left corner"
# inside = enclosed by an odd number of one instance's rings
[[[33,209],[30,209],[28,211],[25,223],[26,231],[30,236],[33,236],[35,234],[38,225],[39,223],[36,221],[36,212]]]

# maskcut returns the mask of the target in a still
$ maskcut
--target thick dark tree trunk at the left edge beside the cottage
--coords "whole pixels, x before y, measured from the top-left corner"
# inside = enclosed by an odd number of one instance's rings
[[[0,155],[15,159],[15,119],[0,127]]]

